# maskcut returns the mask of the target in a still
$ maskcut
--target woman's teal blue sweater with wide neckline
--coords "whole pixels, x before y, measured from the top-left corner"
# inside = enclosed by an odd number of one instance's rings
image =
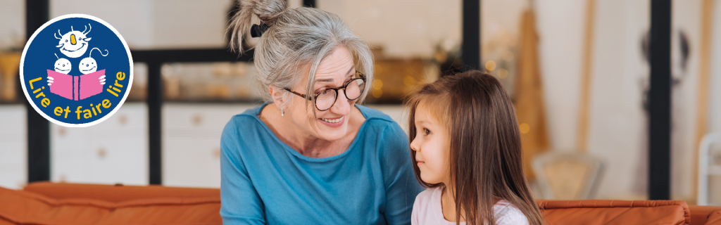
[[[235,115],[221,137],[224,224],[410,224],[423,188],[408,138],[388,115],[366,117],[348,150],[310,158],[284,144],[257,117]]]

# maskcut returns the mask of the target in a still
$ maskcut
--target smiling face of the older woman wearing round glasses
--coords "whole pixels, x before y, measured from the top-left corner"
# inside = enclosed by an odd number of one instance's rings
[[[328,88],[338,88],[355,77],[353,57],[345,47],[336,48],[327,58],[318,65],[314,82],[314,93],[324,92]],[[306,82],[293,87],[293,91],[305,93]],[[332,92],[332,91],[331,91]],[[336,141],[350,132],[348,116],[350,109],[357,100],[348,100],[345,91],[338,91],[337,100],[328,110],[319,111],[313,102],[301,97],[293,96],[293,104],[286,112],[296,125],[303,128],[304,133],[326,141]],[[316,116],[313,115],[315,110]]]

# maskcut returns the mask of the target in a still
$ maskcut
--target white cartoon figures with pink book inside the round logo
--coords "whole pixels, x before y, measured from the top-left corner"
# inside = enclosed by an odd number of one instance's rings
[[[92,29],[92,26],[90,28]],[[56,39],[60,40],[60,43],[56,47],[60,49],[63,55],[69,58],[79,58],[87,51],[91,39],[91,37],[87,37],[90,30],[87,30],[86,27],[87,32],[86,30],[79,32],[73,30],[72,26],[70,30],[71,31],[65,35],[61,35],[61,37],[57,36],[60,30],[58,30],[57,34],[53,34]],[[80,61],[79,71],[83,74],[80,76],[68,74],[72,68],[71,62],[66,58],[59,58],[56,53],[58,61],[55,63],[55,70],[48,69],[48,87],[50,87],[50,92],[65,97],[68,100],[76,101],[101,93],[102,86],[105,84],[105,69],[97,71],[97,61],[92,58],[92,51],[96,49],[100,51],[101,56],[107,56],[107,49],[105,50],[105,54],[102,54],[102,50],[99,48],[92,48],[89,56]]]

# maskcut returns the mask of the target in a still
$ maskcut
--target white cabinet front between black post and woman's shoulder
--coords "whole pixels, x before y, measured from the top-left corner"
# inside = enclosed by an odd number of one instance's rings
[[[220,188],[221,133],[233,115],[253,104],[163,106],[163,185]]]

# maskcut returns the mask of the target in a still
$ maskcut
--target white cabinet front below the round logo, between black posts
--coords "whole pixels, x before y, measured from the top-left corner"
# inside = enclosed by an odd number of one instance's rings
[[[89,128],[50,125],[50,180],[148,184],[148,107],[126,102]]]

